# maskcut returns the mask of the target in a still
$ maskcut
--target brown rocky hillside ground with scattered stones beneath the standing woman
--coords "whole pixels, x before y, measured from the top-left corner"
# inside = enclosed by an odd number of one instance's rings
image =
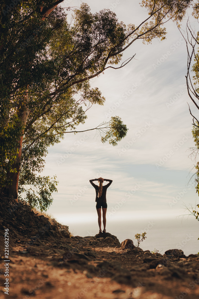
[[[67,226],[6,198],[0,199],[0,253],[0,299],[199,298],[199,255],[152,254],[109,233],[71,237]]]

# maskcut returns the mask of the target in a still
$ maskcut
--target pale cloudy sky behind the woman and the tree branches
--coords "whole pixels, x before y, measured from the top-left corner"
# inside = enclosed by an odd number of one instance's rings
[[[119,21],[138,25],[148,16],[139,2],[87,4],[92,13],[109,8]],[[79,0],[62,3],[62,7],[80,5]],[[91,80],[106,102],[92,106],[86,123],[77,130],[95,128],[117,115],[129,129],[127,136],[113,147],[102,144],[95,131],[68,133],[61,143],[49,148],[43,174],[56,175],[59,184],[47,213],[70,228],[73,223],[97,221],[95,189],[89,180],[98,177],[113,180],[107,190],[111,222],[173,219],[187,214],[185,205],[199,203],[192,178],[196,161],[190,157],[194,141],[187,102],[192,113],[198,111],[186,91],[186,43],[173,22],[166,24],[166,30],[164,41],[133,43],[122,61],[136,54],[135,59],[124,68],[106,70]]]

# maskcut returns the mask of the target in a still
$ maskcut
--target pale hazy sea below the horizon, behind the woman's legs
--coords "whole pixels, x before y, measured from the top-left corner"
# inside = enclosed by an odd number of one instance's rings
[[[74,223],[66,221],[63,217],[56,218],[64,225],[69,226],[69,231],[74,236],[94,236],[98,234],[98,222]],[[103,226],[102,226],[103,227]],[[120,242],[132,239],[137,246],[135,234],[146,231],[146,239],[140,243],[143,250],[164,254],[168,249],[181,249],[187,256],[199,252],[199,222],[194,217],[188,219],[155,219],[121,220],[107,223],[107,232],[115,235]]]

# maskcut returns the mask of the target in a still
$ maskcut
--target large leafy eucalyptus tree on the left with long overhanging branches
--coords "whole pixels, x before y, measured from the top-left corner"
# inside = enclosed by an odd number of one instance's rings
[[[142,1],[148,16],[139,25],[128,26],[110,10],[92,14],[85,3],[74,10],[69,23],[61,2],[0,3],[2,187],[17,199],[24,185],[38,185],[38,193],[30,188],[27,198],[41,209],[49,206],[56,191],[55,178],[36,176],[44,168],[47,148],[67,132],[78,132],[92,105],[104,104],[105,98],[89,80],[129,63],[135,55],[124,62],[122,55],[136,40],[165,39],[163,25],[170,19],[179,23],[192,0]],[[104,132],[102,142],[113,145],[127,134],[116,116],[95,129]]]

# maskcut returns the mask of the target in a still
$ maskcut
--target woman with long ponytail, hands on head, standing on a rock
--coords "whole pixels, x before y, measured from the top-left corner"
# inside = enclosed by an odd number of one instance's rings
[[[99,186],[95,185],[93,181],[98,181]],[[109,183],[103,186],[104,181],[107,181]],[[97,202],[96,209],[98,213],[98,225],[100,229],[99,234],[102,232],[101,231],[101,208],[102,208],[102,217],[103,217],[103,225],[104,225],[103,233],[106,233],[106,213],[107,213],[106,193],[107,193],[107,188],[112,183],[112,180],[99,178],[99,179],[90,180],[90,183],[95,188],[95,192],[96,192],[95,201]]]

